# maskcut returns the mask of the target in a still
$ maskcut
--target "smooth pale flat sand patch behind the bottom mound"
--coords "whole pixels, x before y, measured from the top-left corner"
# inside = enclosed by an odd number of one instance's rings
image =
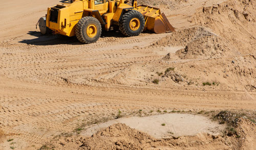
[[[119,118],[97,124],[86,130],[82,135],[92,136],[98,130],[111,126],[114,123],[125,123],[129,127],[145,132],[155,138],[194,136],[198,133],[218,135],[219,131],[224,129],[224,126],[200,115],[172,113],[147,117]]]

